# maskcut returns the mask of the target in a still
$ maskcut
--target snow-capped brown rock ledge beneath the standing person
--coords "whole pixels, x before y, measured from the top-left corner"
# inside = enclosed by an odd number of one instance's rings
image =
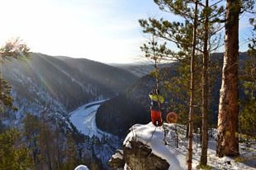
[[[136,124],[130,131],[123,142],[123,151],[125,163],[131,169],[134,166],[140,167],[139,170],[186,169],[186,155],[165,145],[162,127]]]

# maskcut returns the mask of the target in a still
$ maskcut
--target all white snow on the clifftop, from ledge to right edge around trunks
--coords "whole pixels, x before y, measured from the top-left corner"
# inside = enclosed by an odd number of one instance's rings
[[[131,147],[130,142],[137,140],[152,149],[152,153],[167,160],[170,164],[169,170],[187,170],[188,139],[186,138],[186,126],[164,124],[166,139],[164,141],[164,130],[155,127],[152,123],[146,125],[136,124],[126,136],[123,145]],[[178,132],[178,148],[176,147],[176,133]],[[211,170],[256,170],[256,142],[252,141],[250,147],[245,143],[239,143],[240,155],[237,158],[216,156],[216,129],[209,133],[208,163]],[[211,135],[210,135],[211,134]],[[165,142],[167,145],[165,145]],[[201,144],[199,134],[193,134],[193,160],[192,167],[196,170],[200,163]],[[128,170],[128,166],[124,170]]]

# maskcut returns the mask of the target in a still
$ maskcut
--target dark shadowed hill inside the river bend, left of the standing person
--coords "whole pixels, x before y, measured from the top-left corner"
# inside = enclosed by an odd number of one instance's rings
[[[171,63],[161,71],[175,75],[174,66],[177,64]],[[153,90],[154,84],[154,78],[149,74],[145,75],[129,86],[123,94],[104,102],[97,110],[97,126],[103,131],[123,137],[132,125],[151,121],[148,94]]]

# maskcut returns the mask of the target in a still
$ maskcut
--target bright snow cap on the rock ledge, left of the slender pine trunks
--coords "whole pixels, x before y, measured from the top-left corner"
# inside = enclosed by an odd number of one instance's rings
[[[137,140],[150,146],[152,153],[165,159],[170,164],[170,170],[184,170],[187,168],[186,155],[168,147],[164,143],[164,131],[162,127],[155,127],[151,122],[147,125],[136,124],[126,136],[123,144],[129,146],[129,141]]]

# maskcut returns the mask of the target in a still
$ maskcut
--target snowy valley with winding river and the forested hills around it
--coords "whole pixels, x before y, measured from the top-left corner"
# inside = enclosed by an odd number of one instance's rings
[[[221,54],[214,57],[219,61]],[[240,65],[245,58],[246,54],[242,53]],[[25,62],[6,64],[3,76],[12,86],[18,111],[9,111],[12,114],[1,117],[1,123],[22,127],[26,113],[47,119],[52,130],[60,128],[62,140],[68,142],[68,134],[73,136],[78,158],[87,160],[88,167],[97,162],[101,169],[109,170],[107,162],[122,148],[130,127],[151,121],[148,93],[154,87],[154,78],[148,74],[151,66],[118,67],[40,53],[32,53],[32,58]],[[162,82],[179,76],[176,71],[179,62],[161,67]],[[137,74],[140,69],[143,74]],[[211,88],[212,96],[217,96],[219,76]],[[242,98],[243,94],[240,95]],[[166,101],[180,102],[174,93],[167,96]],[[168,105],[163,107],[167,109]],[[212,101],[210,107],[216,112],[218,101]],[[216,121],[216,116],[211,119]]]

